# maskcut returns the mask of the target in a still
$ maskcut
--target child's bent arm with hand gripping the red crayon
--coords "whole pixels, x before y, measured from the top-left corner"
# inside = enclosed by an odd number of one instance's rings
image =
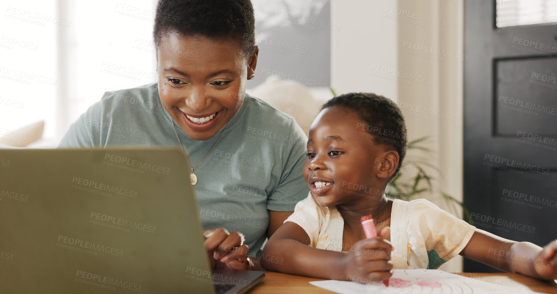
[[[392,275],[392,246],[381,238],[356,242],[348,254],[309,247],[301,226],[284,223],[263,249],[261,266],[268,271],[340,281],[383,281]]]

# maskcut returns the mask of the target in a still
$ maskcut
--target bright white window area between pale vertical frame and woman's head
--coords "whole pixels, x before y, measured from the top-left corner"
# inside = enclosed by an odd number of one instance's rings
[[[58,33],[56,139],[106,91],[158,80],[153,0],[58,0],[72,26]]]

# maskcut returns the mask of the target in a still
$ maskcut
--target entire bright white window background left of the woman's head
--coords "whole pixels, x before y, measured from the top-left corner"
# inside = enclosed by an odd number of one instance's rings
[[[0,137],[45,121],[35,147],[56,147],[105,91],[157,80],[155,0],[2,3]]]

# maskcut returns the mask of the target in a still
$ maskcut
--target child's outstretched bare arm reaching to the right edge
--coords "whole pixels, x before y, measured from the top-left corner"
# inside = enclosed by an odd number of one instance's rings
[[[505,272],[522,273],[542,279],[557,279],[557,240],[544,248],[530,242],[516,242],[476,229],[460,255]]]

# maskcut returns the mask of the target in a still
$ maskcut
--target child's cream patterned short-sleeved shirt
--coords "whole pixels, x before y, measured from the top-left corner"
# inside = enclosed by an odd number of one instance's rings
[[[476,229],[426,199],[395,199],[390,219],[395,269],[438,268],[461,252]],[[319,206],[309,193],[286,221],[305,230],[310,247],[342,251],[344,219],[336,206]]]

